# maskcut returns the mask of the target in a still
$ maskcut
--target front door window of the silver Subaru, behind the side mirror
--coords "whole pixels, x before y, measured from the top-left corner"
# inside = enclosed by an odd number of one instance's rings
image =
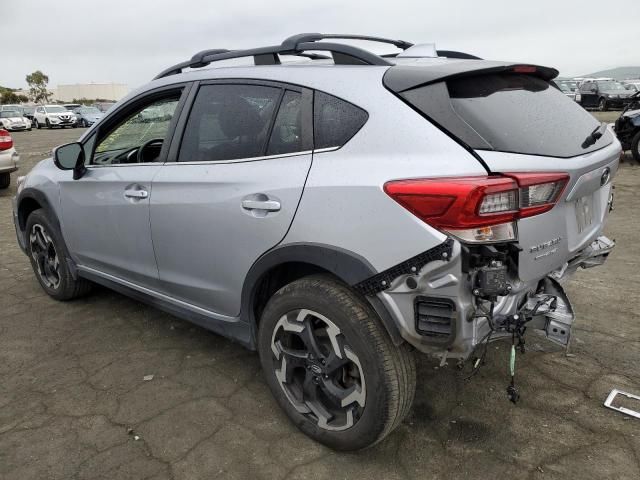
[[[155,161],[160,156],[179,99],[179,93],[155,99],[125,116],[98,141],[91,163],[115,165]]]

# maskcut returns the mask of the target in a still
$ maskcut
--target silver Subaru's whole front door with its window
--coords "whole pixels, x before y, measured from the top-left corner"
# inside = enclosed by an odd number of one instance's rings
[[[157,286],[151,181],[162,167],[180,90],[136,101],[84,143],[87,172],[60,184],[63,231],[80,268]],[[166,154],[164,154],[166,155]]]

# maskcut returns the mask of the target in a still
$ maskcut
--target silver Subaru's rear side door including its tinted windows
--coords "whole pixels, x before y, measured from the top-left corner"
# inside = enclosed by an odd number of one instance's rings
[[[269,82],[199,85],[153,181],[161,287],[237,316],[245,275],[285,236],[311,167],[312,94]]]

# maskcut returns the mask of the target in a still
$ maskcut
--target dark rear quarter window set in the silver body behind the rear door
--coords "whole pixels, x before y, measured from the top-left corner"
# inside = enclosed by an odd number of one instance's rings
[[[341,147],[369,118],[355,105],[332,95],[316,92],[313,101],[314,147]]]

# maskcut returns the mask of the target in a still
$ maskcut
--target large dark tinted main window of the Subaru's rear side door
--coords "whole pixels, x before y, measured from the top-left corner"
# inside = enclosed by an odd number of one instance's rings
[[[282,89],[261,85],[204,85],[191,109],[180,162],[264,155]]]

